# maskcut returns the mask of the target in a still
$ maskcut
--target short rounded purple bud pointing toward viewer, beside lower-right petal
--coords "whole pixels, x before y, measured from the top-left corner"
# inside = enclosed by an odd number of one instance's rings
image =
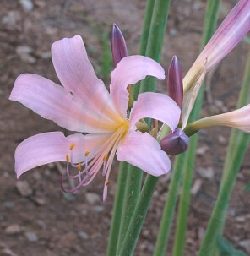
[[[178,128],[161,139],[160,147],[167,155],[179,155],[188,150],[189,138],[182,129]]]

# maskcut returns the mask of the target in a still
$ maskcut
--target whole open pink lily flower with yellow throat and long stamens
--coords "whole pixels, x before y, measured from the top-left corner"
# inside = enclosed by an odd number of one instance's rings
[[[154,176],[171,169],[171,161],[160,144],[149,133],[137,130],[136,123],[150,117],[166,123],[173,131],[181,112],[175,101],[162,94],[140,94],[127,118],[128,84],[147,75],[165,79],[159,63],[143,56],[122,58],[111,72],[109,93],[96,77],[79,35],[56,41],[52,45],[52,61],[63,86],[35,74],[21,74],[9,99],[79,133],[68,137],[61,132],[41,133],[25,139],[15,151],[17,177],[36,166],[67,161],[68,177],[78,179],[79,184],[70,191],[63,190],[73,193],[88,185],[102,167],[106,200],[115,154],[117,160],[128,161]],[[69,174],[69,163],[79,169],[77,175]]]

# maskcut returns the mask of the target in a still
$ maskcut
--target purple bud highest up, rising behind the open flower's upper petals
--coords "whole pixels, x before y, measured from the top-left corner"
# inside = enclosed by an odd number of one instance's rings
[[[115,23],[111,27],[111,52],[115,68],[122,57],[128,56],[126,42],[121,30]]]

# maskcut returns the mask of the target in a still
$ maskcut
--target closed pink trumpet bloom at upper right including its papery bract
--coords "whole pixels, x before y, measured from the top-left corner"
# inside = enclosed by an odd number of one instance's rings
[[[250,1],[240,0],[226,16],[218,30],[199,54],[188,74],[183,79],[183,127],[193,109],[198,91],[203,84],[205,74],[219,63],[247,35],[250,30]]]

